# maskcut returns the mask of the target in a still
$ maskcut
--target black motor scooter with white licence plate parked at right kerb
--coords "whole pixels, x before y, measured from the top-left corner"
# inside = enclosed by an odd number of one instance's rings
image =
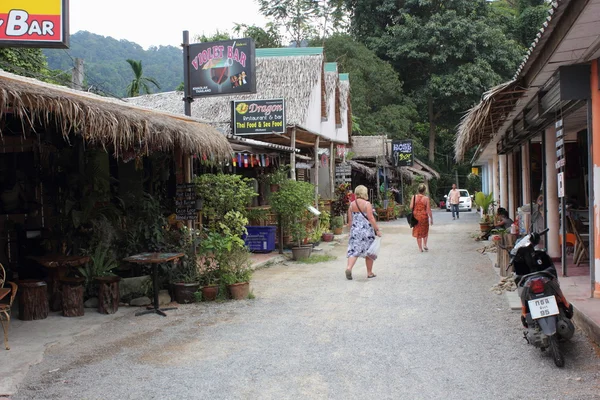
[[[548,229],[533,232],[519,240],[510,251],[509,266],[513,266],[521,297],[525,340],[542,351],[550,348],[554,364],[563,367],[565,360],[558,343],[571,339],[575,333],[571,322],[573,306],[560,289],[552,259],[544,250],[535,248],[546,232]]]

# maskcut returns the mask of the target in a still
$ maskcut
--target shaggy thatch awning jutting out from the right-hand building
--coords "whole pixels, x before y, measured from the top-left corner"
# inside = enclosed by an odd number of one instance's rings
[[[525,89],[515,80],[485,92],[481,102],[462,117],[457,127],[454,142],[455,159],[462,161],[466,152],[472,147],[487,145],[523,93]]]

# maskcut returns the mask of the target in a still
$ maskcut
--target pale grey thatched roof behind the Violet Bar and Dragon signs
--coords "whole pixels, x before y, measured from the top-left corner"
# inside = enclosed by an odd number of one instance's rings
[[[323,70],[323,54],[257,57],[256,93],[235,96],[199,97],[192,103],[192,116],[229,132],[231,101],[279,99],[286,102],[286,119],[290,126],[304,126],[313,88]],[[148,108],[183,113],[183,92],[157,93],[127,99]]]

